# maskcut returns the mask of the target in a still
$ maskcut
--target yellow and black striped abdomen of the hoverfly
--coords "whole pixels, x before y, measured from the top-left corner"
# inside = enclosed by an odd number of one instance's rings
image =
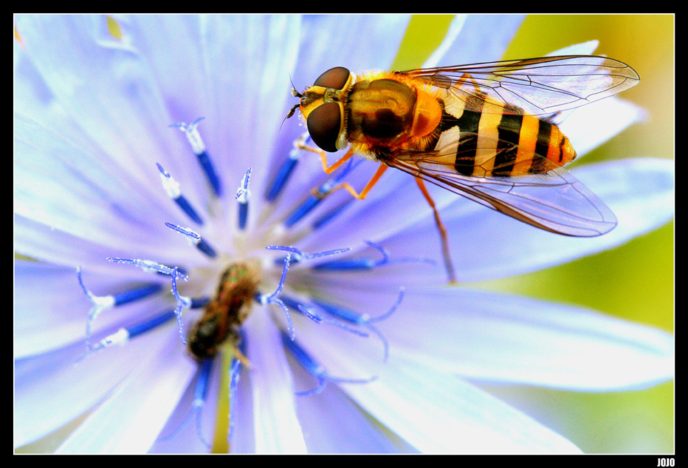
[[[575,158],[571,142],[559,127],[532,115],[464,110],[454,117],[443,112],[440,130],[458,136],[454,168],[462,175],[542,174]],[[440,145],[446,148],[443,135],[436,149]]]

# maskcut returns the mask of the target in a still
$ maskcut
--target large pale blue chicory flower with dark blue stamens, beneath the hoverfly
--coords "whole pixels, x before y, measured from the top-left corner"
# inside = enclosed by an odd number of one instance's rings
[[[605,391],[672,378],[665,332],[442,286],[431,212],[403,173],[364,201],[315,204],[314,188],[361,187],[374,165],[329,177],[291,151],[303,128],[282,122],[289,78],[388,66],[406,15],[115,19],[15,18],[15,251],[29,258],[15,261],[15,446],[78,420],[59,452],[222,450],[229,432],[233,452],[572,453],[470,382]],[[431,60],[499,59],[520,20],[459,17]],[[581,154],[642,115],[608,98],[564,128]],[[547,268],[671,219],[662,161],[575,175],[617,215],[608,235],[545,233],[433,190],[459,280]],[[259,277],[247,359],[199,362],[182,341],[238,259]]]

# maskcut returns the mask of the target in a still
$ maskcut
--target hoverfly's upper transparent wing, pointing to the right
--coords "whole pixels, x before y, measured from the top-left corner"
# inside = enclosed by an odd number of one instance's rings
[[[445,88],[470,110],[550,115],[638,84],[630,66],[596,55],[563,55],[399,71]]]

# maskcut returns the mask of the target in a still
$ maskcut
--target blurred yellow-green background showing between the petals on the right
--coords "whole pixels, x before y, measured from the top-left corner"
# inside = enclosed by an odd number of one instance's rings
[[[396,63],[422,63],[451,16],[413,17]],[[428,36],[429,31],[434,36]],[[585,163],[652,156],[673,159],[673,15],[529,15],[503,59],[540,57],[596,39],[597,54],[633,66],[640,85],[622,98],[643,106],[636,124],[585,156]],[[415,64],[415,65],[413,65]],[[446,64],[445,64],[446,65]],[[673,222],[631,242],[541,272],[466,284],[567,302],[673,332]],[[523,386],[483,386],[586,453],[674,453],[673,382],[647,390],[575,393]]]

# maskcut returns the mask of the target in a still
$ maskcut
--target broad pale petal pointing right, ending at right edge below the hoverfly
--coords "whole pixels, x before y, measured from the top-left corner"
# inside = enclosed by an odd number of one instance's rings
[[[319,292],[335,303],[365,304],[360,312],[371,316],[389,307],[380,291],[331,286]],[[399,309],[377,326],[389,341],[390,361],[415,360],[438,372],[493,383],[629,390],[670,380],[674,372],[673,337],[667,332],[513,295],[408,288]],[[329,329],[321,333],[329,335]],[[347,336],[325,341],[334,348],[331,353],[341,353],[339,360],[352,361],[349,365],[357,360],[359,372],[373,372],[379,343]],[[368,357],[349,356],[354,347]]]

